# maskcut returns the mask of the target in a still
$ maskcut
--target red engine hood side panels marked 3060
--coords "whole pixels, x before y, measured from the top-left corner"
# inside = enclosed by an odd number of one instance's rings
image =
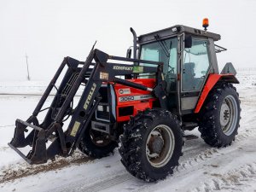
[[[144,86],[150,87],[150,88],[153,88],[155,85],[155,79],[129,79],[129,81],[137,84],[143,84]],[[145,95],[151,96],[151,92],[148,90],[137,90],[135,88],[125,86],[122,84],[114,84],[114,91],[115,91],[116,100],[117,100],[116,113],[117,113],[118,122],[130,120],[130,115],[126,115],[126,116],[119,115],[119,108],[133,106],[134,110],[132,115],[135,116],[137,114],[137,111],[143,111],[146,108],[152,108],[153,102],[156,101],[156,99],[153,98],[152,96],[152,98],[145,98],[142,100],[129,100],[127,102],[120,102],[119,101],[120,97],[125,96],[125,98],[129,98],[129,96],[132,96],[134,98],[134,96],[145,96]]]

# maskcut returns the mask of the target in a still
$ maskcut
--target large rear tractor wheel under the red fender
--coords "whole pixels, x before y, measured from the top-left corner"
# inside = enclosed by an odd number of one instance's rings
[[[220,84],[209,94],[201,112],[201,138],[212,147],[226,147],[236,137],[240,100],[232,84]]]

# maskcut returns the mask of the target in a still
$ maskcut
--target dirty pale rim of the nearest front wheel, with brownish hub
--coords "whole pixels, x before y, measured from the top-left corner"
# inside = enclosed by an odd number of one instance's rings
[[[158,125],[149,133],[146,154],[151,166],[162,167],[171,160],[175,146],[172,129],[167,125]]]

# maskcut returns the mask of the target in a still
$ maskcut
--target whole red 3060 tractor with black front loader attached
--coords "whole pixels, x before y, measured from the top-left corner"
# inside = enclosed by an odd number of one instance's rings
[[[9,146],[29,164],[42,164],[56,155],[72,155],[76,148],[102,158],[120,143],[126,170],[151,182],[172,174],[178,166],[184,130],[199,127],[212,147],[230,145],[241,110],[232,84],[239,82],[231,63],[218,73],[216,53],[225,50],[214,44],[220,36],[188,26],[138,38],[131,32],[133,59],[131,49],[126,57],[119,57],[94,47],[84,62],[64,58],[32,116],[16,119]],[[57,87],[64,67],[67,72]],[[79,103],[73,106],[81,87]],[[49,108],[42,109],[54,88]],[[45,110],[39,123],[38,113]],[[32,147],[30,152],[21,153],[19,148],[26,146]]]

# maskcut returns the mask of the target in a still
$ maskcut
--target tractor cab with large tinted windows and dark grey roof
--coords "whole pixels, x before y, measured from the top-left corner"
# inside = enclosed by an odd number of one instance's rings
[[[219,39],[216,33],[179,25],[138,37],[139,59],[164,63],[167,105],[172,113],[194,112],[209,73],[218,73],[214,41]]]

